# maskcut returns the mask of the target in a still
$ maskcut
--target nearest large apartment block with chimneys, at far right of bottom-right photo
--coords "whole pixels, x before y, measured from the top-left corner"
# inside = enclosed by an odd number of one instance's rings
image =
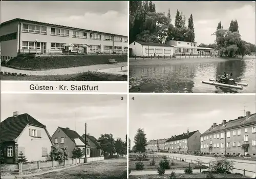
[[[212,154],[256,153],[256,114],[214,123],[201,135],[201,152]]]

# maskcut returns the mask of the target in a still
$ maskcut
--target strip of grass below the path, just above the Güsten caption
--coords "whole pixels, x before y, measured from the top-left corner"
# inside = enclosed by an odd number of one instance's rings
[[[127,75],[114,75],[101,72],[84,72],[72,75],[44,75],[44,76],[12,76],[1,75],[1,80],[25,81],[127,81]]]

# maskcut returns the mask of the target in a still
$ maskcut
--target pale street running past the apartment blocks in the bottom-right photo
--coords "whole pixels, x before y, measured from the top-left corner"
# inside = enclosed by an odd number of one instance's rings
[[[180,160],[180,158],[186,159],[186,162],[191,162],[191,160],[192,160],[192,163],[196,163],[195,161],[200,160],[201,162],[208,164],[209,162],[216,160],[215,158],[209,157],[209,156],[195,156],[195,155],[184,155],[184,154],[178,154],[178,153],[158,153],[158,152],[156,154],[157,155],[174,156],[175,159],[177,157],[178,160]],[[249,176],[249,177],[255,176],[256,161],[247,161],[247,160],[238,160],[238,159],[234,159],[234,160],[232,159],[230,161],[233,161],[233,163],[234,163],[233,168],[240,169],[240,170],[233,169],[233,173],[237,172],[237,173],[243,174],[244,173],[243,170],[245,169],[245,170],[251,171],[251,172],[245,171],[246,176]]]

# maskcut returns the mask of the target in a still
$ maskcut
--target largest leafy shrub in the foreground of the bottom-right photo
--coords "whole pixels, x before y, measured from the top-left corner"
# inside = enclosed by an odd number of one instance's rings
[[[212,173],[224,173],[228,174],[232,171],[234,164],[232,161],[227,160],[226,158],[220,158],[216,161],[210,162],[209,171]]]

